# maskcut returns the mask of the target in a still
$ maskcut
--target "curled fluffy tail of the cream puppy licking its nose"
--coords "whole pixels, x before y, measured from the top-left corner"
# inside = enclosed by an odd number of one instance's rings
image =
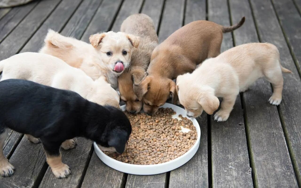
[[[45,45],[52,48],[70,48],[72,44],[66,41],[66,37],[60,35],[52,29],[48,29],[48,33],[44,39]]]

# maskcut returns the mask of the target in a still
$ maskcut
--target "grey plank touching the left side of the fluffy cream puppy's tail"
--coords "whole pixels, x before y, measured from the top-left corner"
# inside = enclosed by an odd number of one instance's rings
[[[37,52],[44,44],[48,29],[60,31],[82,0],[63,0],[20,51]]]

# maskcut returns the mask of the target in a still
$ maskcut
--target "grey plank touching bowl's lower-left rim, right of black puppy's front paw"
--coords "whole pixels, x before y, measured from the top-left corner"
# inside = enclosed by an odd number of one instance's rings
[[[104,164],[93,152],[90,164],[86,171],[82,188],[114,188],[121,187],[125,182],[124,173],[116,171]]]

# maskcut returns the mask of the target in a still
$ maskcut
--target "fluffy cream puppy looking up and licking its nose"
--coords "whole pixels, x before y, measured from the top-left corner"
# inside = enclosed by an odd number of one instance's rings
[[[83,70],[93,80],[106,76],[114,89],[117,77],[129,67],[133,48],[139,40],[123,32],[104,32],[90,36],[92,45],[49,30],[40,53],[50,54],[70,66]]]

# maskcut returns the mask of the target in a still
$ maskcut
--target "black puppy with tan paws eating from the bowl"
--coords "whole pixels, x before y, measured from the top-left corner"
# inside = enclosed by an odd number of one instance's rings
[[[129,119],[119,109],[89,102],[73,91],[35,82],[8,79],[0,82],[0,148],[8,128],[39,138],[55,177],[67,177],[60,146],[67,139],[86,137],[102,150],[123,153],[132,132]],[[0,174],[14,174],[14,167],[0,152]]]

